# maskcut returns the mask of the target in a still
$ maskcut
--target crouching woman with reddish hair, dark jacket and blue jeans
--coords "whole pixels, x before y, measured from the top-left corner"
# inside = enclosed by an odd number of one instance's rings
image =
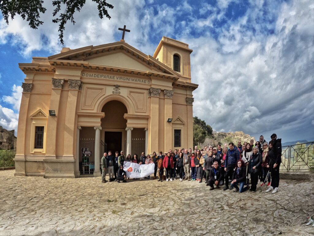
[[[238,184],[240,184],[240,189],[238,187]],[[231,187],[235,187],[236,189],[233,192],[242,193],[249,189],[250,187],[244,187],[246,184],[246,166],[244,164],[243,160],[237,160],[236,162],[236,170],[233,171],[232,181],[231,181]]]

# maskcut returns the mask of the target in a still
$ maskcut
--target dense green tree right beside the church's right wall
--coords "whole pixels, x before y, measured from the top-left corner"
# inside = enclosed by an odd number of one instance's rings
[[[212,137],[212,135],[213,128],[211,126],[206,125],[206,122],[197,116],[193,117],[193,146],[203,143],[206,137]]]

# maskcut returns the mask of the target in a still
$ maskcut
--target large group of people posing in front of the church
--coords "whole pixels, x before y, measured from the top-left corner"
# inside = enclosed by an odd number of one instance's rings
[[[206,181],[206,185],[210,186],[209,190],[214,190],[214,186],[225,185],[223,190],[235,188],[234,192],[244,192],[246,190],[256,192],[258,180],[261,186],[269,187],[266,192],[278,192],[279,187],[279,167],[281,163],[281,139],[277,139],[276,134],[271,135],[271,141],[267,143],[260,136],[259,141],[254,143],[251,139],[249,143],[241,140],[237,145],[229,143],[221,147],[205,146],[204,149],[194,147],[194,151],[190,149],[171,149],[167,153],[153,152],[145,156],[142,152],[141,156],[137,154],[123,155],[123,151],[116,151],[115,156],[111,155],[111,151],[104,153],[101,159],[102,182],[106,183],[106,173],[109,174],[109,181],[126,182],[126,172],[123,170],[124,161],[133,163],[151,164],[154,163],[154,177],[158,181],[173,181],[177,176],[180,181],[197,181],[202,183]],[[145,178],[150,178],[147,176]],[[143,178],[141,178],[143,179]],[[251,181],[251,186],[249,182]],[[230,184],[230,187],[229,187]]]

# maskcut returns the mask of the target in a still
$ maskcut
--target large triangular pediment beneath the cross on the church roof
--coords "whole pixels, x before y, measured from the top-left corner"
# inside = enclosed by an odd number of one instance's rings
[[[49,60],[88,62],[93,65],[120,67],[142,71],[156,71],[180,76],[176,71],[162,64],[152,56],[142,53],[125,42],[115,42],[99,46],[87,46],[48,57]]]

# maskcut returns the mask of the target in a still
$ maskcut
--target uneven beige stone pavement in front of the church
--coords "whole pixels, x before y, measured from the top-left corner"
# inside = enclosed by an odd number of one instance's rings
[[[192,181],[101,183],[0,171],[0,235],[314,235],[314,182],[277,194],[209,191]],[[266,190],[266,188],[264,189]]]

